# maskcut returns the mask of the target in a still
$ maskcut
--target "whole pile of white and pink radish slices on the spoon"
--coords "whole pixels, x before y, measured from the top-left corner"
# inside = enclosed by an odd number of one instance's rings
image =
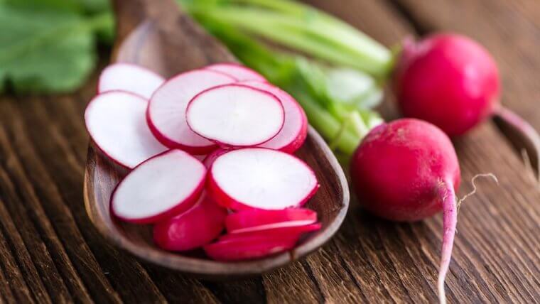
[[[132,169],[112,193],[112,215],[153,224],[162,249],[257,259],[320,229],[302,207],[317,178],[291,155],[306,139],[306,114],[257,72],[220,63],[165,80],[117,63],[98,93],[85,112],[92,141]]]

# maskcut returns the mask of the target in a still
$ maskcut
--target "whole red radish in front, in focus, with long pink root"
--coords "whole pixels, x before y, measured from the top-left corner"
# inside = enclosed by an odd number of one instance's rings
[[[417,221],[443,211],[443,249],[438,294],[450,264],[460,184],[458,157],[441,129],[399,119],[372,129],[352,157],[352,186],[360,202],[379,217]]]

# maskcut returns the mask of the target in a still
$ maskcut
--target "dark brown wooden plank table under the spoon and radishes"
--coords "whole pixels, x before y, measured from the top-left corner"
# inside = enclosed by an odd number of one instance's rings
[[[484,44],[503,103],[540,130],[540,3],[535,0],[313,0],[386,45],[452,30]],[[441,217],[375,219],[352,202],[338,235],[303,261],[244,281],[188,278],[141,263],[97,233],[82,202],[87,133],[79,92],[0,100],[0,303],[379,303],[436,301]],[[392,107],[388,105],[388,107]],[[540,188],[492,121],[455,141],[479,192],[460,210],[447,278],[451,303],[540,302]]]

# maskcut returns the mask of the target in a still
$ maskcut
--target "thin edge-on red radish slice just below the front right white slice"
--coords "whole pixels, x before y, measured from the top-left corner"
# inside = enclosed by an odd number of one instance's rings
[[[317,212],[306,208],[284,210],[244,210],[228,215],[225,226],[228,232],[245,232],[253,229],[292,227],[317,222]]]

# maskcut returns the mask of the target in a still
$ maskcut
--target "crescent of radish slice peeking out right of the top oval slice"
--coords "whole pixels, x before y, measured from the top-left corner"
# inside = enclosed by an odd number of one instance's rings
[[[298,150],[306,141],[308,135],[308,118],[300,104],[287,92],[269,83],[248,81],[242,82],[242,84],[274,94],[281,101],[285,110],[283,129],[273,139],[259,146],[286,153],[293,153]]]

